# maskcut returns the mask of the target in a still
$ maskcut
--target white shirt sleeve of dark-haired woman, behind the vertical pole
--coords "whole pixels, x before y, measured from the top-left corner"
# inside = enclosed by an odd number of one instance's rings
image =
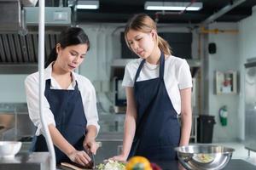
[[[26,77],[25,80],[25,88],[26,88],[26,102],[27,108],[29,112],[30,119],[33,124],[38,127],[36,131],[36,135],[45,134],[42,122],[40,120],[39,115],[39,83],[38,83],[38,74],[32,74]],[[45,98],[44,99],[44,120],[47,125],[53,124],[55,126],[55,118],[52,112],[49,110],[49,102]]]

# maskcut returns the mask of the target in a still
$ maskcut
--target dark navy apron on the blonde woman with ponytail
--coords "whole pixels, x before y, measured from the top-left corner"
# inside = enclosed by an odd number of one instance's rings
[[[139,65],[134,84],[136,131],[141,132],[136,132],[130,157],[145,156],[150,161],[170,161],[177,158],[174,147],[180,141],[180,124],[164,82],[165,55],[160,55],[160,77],[137,82],[144,63],[145,59]]]

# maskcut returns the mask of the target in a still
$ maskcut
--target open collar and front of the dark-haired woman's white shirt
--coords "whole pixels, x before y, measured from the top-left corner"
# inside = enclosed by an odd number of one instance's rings
[[[52,72],[52,65],[54,64],[54,61],[48,65],[48,67],[44,70],[44,80],[50,79],[50,88],[60,88],[58,83],[55,81],[54,77],[51,77]],[[73,77],[73,82],[70,84],[70,86],[67,89],[74,89],[76,86],[76,76],[75,73],[71,72]]]

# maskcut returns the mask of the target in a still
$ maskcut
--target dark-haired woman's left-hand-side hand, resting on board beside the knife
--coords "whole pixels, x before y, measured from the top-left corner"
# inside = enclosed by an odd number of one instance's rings
[[[82,166],[85,166],[90,162],[90,156],[88,156],[84,150],[74,150],[68,155],[68,158]]]

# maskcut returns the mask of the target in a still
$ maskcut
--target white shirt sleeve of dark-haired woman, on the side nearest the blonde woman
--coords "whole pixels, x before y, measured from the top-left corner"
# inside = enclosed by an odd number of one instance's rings
[[[94,125],[99,133],[100,126],[98,124],[99,117],[96,107],[96,91],[89,80],[84,80],[83,85],[80,86],[80,92],[84,104],[84,114],[87,119],[87,127]]]

